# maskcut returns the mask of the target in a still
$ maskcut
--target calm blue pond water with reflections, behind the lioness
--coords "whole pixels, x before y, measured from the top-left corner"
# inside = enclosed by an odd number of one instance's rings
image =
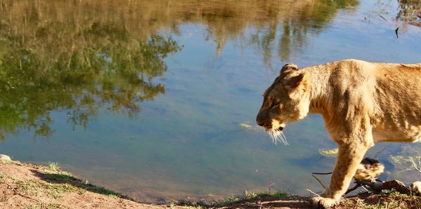
[[[58,162],[138,201],[321,191],[310,173],[335,161],[319,154],[335,147],[321,117],[291,124],[290,145],[275,146],[254,123],[261,95],[286,62],[421,62],[421,29],[403,22],[416,23],[413,7],[1,1],[0,153]],[[394,159],[420,148],[377,144],[367,156],[386,164],[384,179],[410,182],[420,173]]]

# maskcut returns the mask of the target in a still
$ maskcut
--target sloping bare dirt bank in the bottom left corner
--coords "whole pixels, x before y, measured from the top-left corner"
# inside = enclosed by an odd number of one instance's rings
[[[53,166],[0,163],[0,208],[166,208],[77,180]],[[182,207],[176,207],[182,208]]]

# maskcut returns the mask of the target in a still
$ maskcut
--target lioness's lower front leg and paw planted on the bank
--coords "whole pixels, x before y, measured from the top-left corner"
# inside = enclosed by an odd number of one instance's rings
[[[339,146],[338,159],[330,178],[330,185],[321,196],[311,198],[310,205],[312,207],[329,208],[340,201],[368,148],[369,146],[363,144],[342,144]]]

